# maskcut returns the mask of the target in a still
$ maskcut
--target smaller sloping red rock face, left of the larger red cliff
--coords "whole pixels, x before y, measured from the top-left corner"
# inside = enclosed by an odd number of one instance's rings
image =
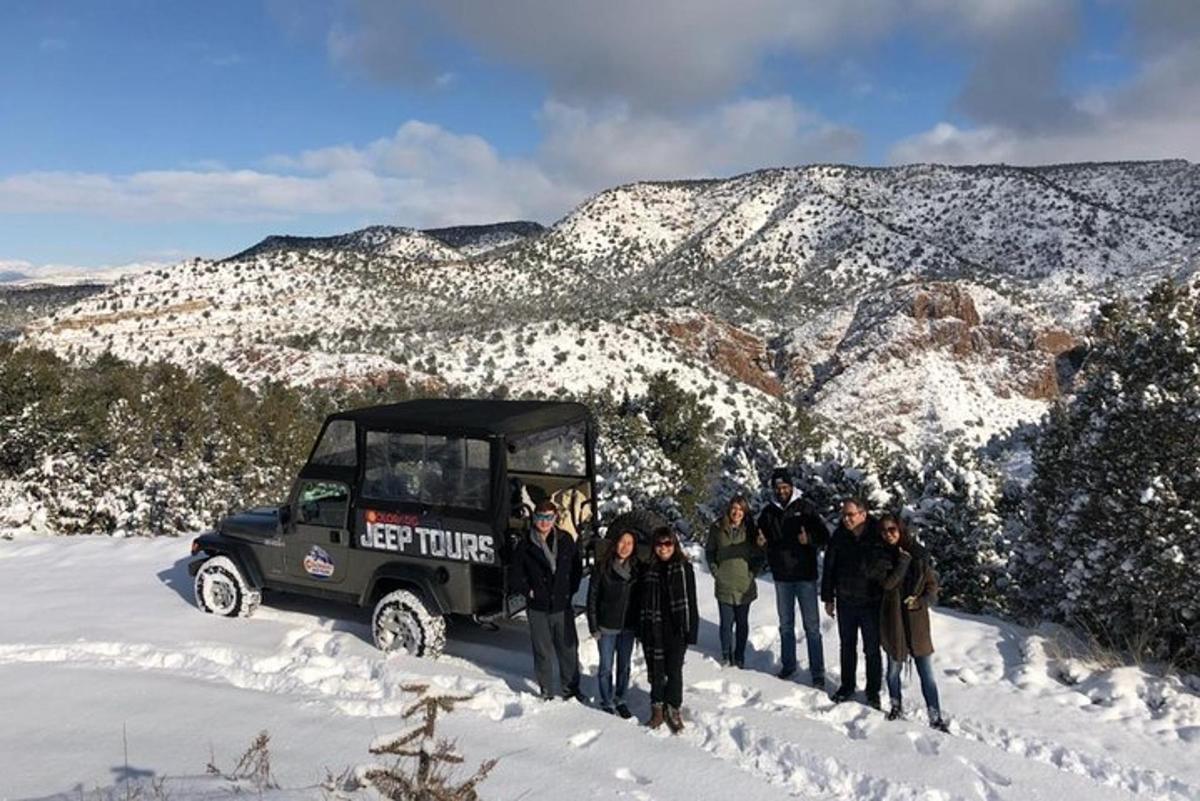
[[[686,353],[730,378],[776,398],[784,395],[784,384],[772,371],[767,343],[752,333],[706,314],[667,319],[662,329]]]

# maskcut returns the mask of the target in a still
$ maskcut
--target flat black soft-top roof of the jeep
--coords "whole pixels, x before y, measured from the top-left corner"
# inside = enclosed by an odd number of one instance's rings
[[[367,428],[466,436],[526,434],[589,422],[582,403],[558,401],[426,399],[366,406],[330,415]]]

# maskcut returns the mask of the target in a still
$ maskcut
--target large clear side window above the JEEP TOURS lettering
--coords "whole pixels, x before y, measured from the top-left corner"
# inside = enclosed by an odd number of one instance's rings
[[[362,494],[380,500],[486,510],[488,453],[486,440],[368,430]]]

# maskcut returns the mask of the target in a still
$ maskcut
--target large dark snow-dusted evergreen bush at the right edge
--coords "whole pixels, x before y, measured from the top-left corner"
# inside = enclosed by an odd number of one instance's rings
[[[1031,616],[1200,664],[1200,301],[1105,306],[1085,380],[1049,415],[1014,572]]]

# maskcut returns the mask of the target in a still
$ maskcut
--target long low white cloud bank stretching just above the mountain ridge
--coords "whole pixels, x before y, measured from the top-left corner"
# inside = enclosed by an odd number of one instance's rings
[[[744,100],[686,119],[547,102],[529,158],[421,121],[365,145],[263,159],[260,169],[42,171],[0,177],[0,213],[84,213],[126,221],[287,219],[360,213],[406,225],[552,221],[612,183],[727,175],[853,158],[856,132],[787,97]]]

